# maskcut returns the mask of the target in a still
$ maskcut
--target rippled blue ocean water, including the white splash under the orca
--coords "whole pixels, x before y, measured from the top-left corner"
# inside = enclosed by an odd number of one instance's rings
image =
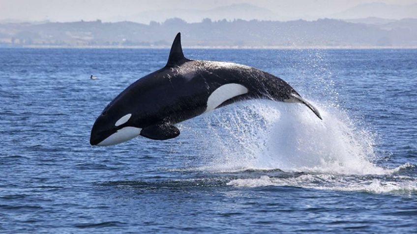
[[[283,78],[323,121],[253,100],[91,147],[168,52],[0,49],[0,233],[417,232],[417,50],[184,50]]]

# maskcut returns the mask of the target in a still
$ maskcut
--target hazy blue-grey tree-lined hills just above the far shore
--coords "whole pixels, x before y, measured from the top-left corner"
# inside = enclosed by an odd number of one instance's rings
[[[317,21],[212,21],[173,18],[149,25],[119,22],[0,24],[0,46],[169,47],[177,32],[186,47],[417,47],[417,20],[387,24]]]

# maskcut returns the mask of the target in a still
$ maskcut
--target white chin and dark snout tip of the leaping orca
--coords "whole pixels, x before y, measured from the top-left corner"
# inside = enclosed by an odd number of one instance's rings
[[[96,146],[110,146],[110,145],[116,145],[122,142],[125,142],[127,140],[130,140],[132,138],[135,138],[141,133],[140,128],[135,127],[124,127],[122,129],[117,130],[115,133],[107,136],[103,139],[103,137],[93,137],[93,134],[91,134],[90,137],[90,144],[96,145]]]

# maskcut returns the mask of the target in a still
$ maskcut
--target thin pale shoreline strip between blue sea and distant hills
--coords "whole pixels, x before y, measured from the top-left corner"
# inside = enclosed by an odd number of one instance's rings
[[[164,46],[0,46],[0,49],[170,49]],[[237,46],[191,46],[184,49],[205,49],[205,50],[413,50],[411,47],[383,47],[383,46],[265,46],[265,47],[237,47]]]

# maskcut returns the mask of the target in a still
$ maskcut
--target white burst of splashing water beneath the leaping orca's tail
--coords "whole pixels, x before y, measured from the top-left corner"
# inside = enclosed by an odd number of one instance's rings
[[[323,121],[301,104],[248,101],[206,115],[209,168],[281,169],[338,174],[385,174],[371,161],[373,134],[357,130],[335,107],[319,107]],[[220,111],[219,111],[220,112]],[[220,127],[218,127],[220,126]]]

